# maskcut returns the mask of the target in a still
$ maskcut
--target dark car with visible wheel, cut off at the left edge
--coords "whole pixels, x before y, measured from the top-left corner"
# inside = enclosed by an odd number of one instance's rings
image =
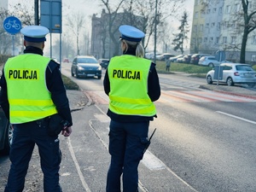
[[[0,151],[3,154],[9,154],[9,149],[13,141],[13,129],[6,119],[3,109],[0,107]]]

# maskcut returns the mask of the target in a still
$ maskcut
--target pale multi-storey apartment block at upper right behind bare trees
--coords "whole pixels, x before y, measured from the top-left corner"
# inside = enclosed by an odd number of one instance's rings
[[[248,14],[255,9],[251,0]],[[195,0],[190,52],[214,55],[224,50],[227,60],[239,61],[243,24],[241,0]],[[246,61],[256,61],[256,30],[247,37]]]

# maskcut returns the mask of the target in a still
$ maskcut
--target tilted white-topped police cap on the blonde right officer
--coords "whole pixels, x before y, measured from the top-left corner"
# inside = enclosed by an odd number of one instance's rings
[[[145,37],[145,33],[134,26],[119,26],[119,32],[122,35],[120,38],[128,41],[140,42]]]

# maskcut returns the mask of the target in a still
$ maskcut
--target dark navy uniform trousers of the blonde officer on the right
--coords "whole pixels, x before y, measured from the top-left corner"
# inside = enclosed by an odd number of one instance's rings
[[[138,165],[148,143],[149,121],[119,123],[111,120],[109,131],[109,154],[107,192],[120,192],[123,174],[123,192],[138,191]]]

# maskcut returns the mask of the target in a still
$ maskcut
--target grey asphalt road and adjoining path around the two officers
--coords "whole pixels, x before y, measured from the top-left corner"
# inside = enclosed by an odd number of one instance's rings
[[[70,77],[68,64],[61,72]],[[71,137],[60,137],[61,186],[70,192],[105,191],[108,96],[102,80],[71,79],[82,91],[68,91],[74,125]],[[149,134],[157,130],[139,166],[140,192],[256,191],[255,90],[236,86],[226,92],[227,86],[209,88],[204,79],[185,74],[160,74],[160,85],[158,118]],[[0,158],[1,177],[8,166],[8,158]]]

